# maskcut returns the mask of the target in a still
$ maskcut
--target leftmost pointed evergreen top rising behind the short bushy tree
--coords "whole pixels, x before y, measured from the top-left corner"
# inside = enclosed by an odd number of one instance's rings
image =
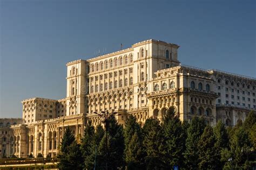
[[[75,136],[73,135],[73,133],[71,132],[71,130],[68,126],[64,132],[62,142],[60,143],[60,145],[61,145],[60,152],[67,153],[68,146],[70,146],[73,143],[73,141],[75,141]]]

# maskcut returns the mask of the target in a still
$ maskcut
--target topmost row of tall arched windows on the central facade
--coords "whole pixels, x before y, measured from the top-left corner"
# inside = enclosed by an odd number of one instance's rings
[[[122,66],[124,64],[128,64],[128,63],[132,63],[133,62],[133,55],[130,55],[130,57],[128,58],[128,56],[126,55],[124,57],[124,61],[123,61],[123,56],[120,56],[119,59],[114,58],[110,59],[109,61],[105,60],[104,63],[103,61],[100,61],[100,63],[96,62],[95,64],[91,64],[91,72],[97,72],[99,70],[103,70],[103,69],[108,69],[108,68],[112,68],[112,67],[118,67],[118,66]]]

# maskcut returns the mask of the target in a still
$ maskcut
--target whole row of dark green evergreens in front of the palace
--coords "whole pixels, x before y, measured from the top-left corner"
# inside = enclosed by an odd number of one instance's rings
[[[232,169],[250,168],[256,161],[256,116],[226,128],[221,121],[212,127],[202,117],[181,122],[170,108],[163,122],[146,119],[140,126],[130,115],[123,128],[114,116],[108,118],[107,133],[88,121],[78,142],[65,130],[59,169]],[[106,140],[107,138],[107,140]],[[107,142],[106,142],[107,141]]]

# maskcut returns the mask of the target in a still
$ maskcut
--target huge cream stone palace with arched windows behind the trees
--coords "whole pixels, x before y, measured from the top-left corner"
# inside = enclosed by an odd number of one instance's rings
[[[181,121],[202,116],[212,126],[219,120],[234,126],[256,112],[255,78],[181,65],[178,48],[150,39],[66,63],[65,98],[25,99],[22,118],[0,119],[0,158],[56,157],[67,126],[79,140],[86,120],[100,124],[95,112],[105,110],[118,112],[120,124],[132,114],[143,125],[152,116],[162,121],[174,107]]]

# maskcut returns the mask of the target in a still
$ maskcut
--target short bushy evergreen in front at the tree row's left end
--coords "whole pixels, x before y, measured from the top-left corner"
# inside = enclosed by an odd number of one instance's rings
[[[60,154],[59,169],[82,169],[83,168],[83,157],[80,151],[80,145],[76,141],[73,141],[65,149],[66,153]]]

